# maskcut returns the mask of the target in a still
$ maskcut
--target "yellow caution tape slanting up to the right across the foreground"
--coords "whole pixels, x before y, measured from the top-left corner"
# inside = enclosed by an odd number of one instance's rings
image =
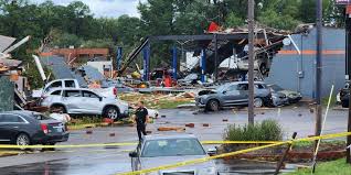
[[[287,144],[287,143],[291,144],[291,143],[301,142],[301,141],[316,141],[316,140],[319,140],[319,139],[332,139],[332,138],[340,138],[340,136],[348,136],[348,135],[351,135],[351,132],[342,132],[342,133],[334,133],[334,134],[326,134],[326,135],[321,135],[321,136],[311,136],[311,138],[297,139],[297,140],[292,140],[292,141],[273,143],[273,144],[268,144],[268,145],[263,145],[263,146],[257,146],[257,147],[235,151],[235,152],[231,152],[231,153],[224,153],[224,154],[220,154],[220,155],[215,155],[215,156],[209,156],[209,157],[203,157],[203,158],[196,158],[196,160],[191,160],[191,161],[179,162],[179,163],[174,163],[174,164],[170,164],[170,165],[163,165],[163,166],[158,166],[158,167],[152,167],[152,168],[147,168],[147,169],[141,169],[141,171],[136,171],[136,172],[120,173],[120,175],[139,175],[139,174],[143,174],[143,173],[151,173],[151,172],[157,172],[157,171],[161,171],[161,169],[169,169],[169,168],[176,168],[176,167],[179,167],[179,166],[185,166],[185,165],[191,165],[191,164],[203,163],[203,162],[208,162],[208,161],[215,160],[215,158],[223,158],[223,157],[226,157],[226,156],[233,156],[233,155],[248,153],[248,152],[253,152],[253,151],[257,151],[257,150],[274,147],[274,146],[278,146],[278,145],[283,145],[283,144]]]

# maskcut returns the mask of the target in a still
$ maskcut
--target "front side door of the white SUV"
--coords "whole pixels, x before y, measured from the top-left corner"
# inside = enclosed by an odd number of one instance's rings
[[[99,113],[103,110],[100,97],[93,91],[82,90],[82,103],[84,109],[89,113]]]

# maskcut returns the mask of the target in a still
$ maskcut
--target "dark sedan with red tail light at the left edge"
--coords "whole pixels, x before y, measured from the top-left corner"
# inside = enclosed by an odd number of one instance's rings
[[[53,145],[68,140],[65,125],[33,111],[0,112],[0,142],[17,145]]]

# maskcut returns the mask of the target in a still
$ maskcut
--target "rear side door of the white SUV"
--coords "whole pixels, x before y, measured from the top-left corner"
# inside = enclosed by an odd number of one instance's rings
[[[84,110],[81,90],[64,90],[62,102],[66,106],[68,113],[81,113]]]

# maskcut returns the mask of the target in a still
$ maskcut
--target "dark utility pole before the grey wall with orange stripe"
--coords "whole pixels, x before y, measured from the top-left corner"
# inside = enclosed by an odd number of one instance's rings
[[[322,0],[317,0],[317,55],[316,55],[316,128],[315,135],[320,135],[322,109],[320,105],[321,57],[322,57]],[[316,144],[317,145],[317,144]]]

